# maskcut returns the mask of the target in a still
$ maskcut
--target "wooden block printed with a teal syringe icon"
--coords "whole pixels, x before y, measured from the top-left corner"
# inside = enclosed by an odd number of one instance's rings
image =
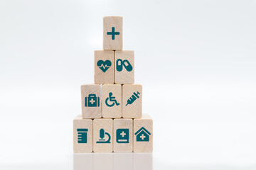
[[[142,85],[122,86],[122,117],[142,118]]]

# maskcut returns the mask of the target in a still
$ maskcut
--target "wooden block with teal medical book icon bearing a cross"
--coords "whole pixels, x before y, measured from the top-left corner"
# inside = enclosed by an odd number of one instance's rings
[[[114,119],[114,152],[132,152],[132,119]]]

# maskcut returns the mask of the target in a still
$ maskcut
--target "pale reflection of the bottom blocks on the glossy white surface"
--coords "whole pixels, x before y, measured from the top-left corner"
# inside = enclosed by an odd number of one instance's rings
[[[73,154],[73,170],[153,170],[152,154]]]

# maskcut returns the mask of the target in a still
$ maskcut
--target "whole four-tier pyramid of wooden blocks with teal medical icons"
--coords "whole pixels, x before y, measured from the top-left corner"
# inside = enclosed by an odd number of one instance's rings
[[[103,18],[103,50],[96,50],[95,84],[81,86],[82,115],[73,120],[73,150],[153,150],[153,120],[142,114],[142,85],[134,84],[134,51],[122,50],[120,16]]]

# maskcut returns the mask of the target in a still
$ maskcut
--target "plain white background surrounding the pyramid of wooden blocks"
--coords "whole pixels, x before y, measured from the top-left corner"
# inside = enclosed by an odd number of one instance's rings
[[[103,16],[124,17],[154,169],[256,168],[256,1],[0,0],[0,169],[73,169]]]

